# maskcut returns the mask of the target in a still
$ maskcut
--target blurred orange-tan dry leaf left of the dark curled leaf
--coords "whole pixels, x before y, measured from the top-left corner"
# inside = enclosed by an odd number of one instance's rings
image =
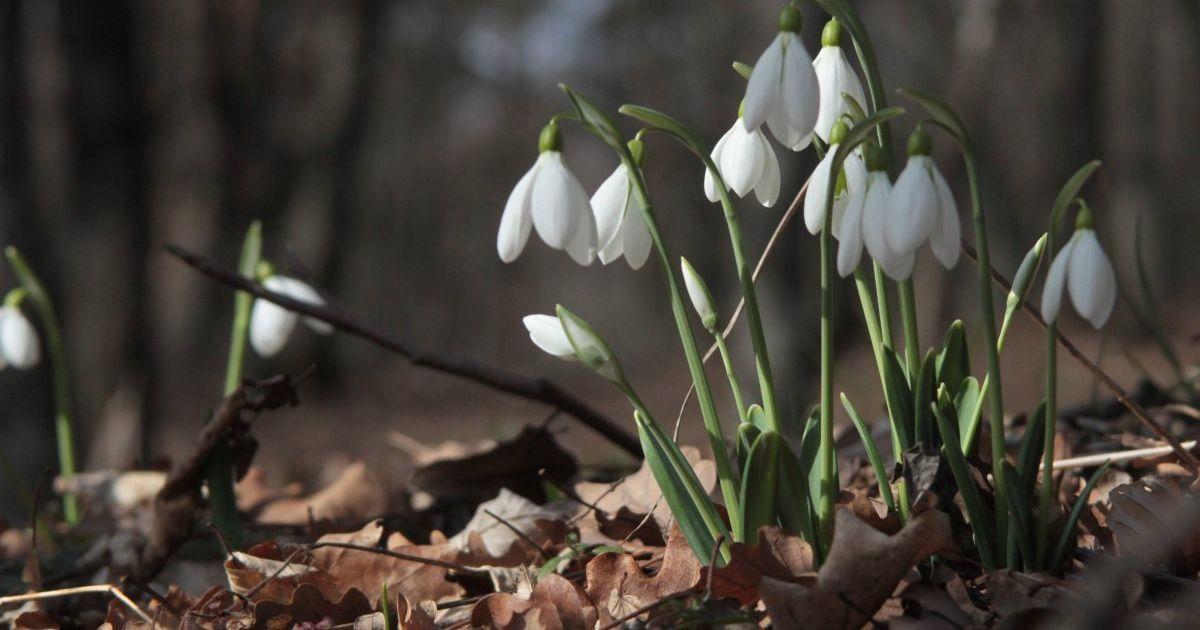
[[[383,514],[386,508],[383,484],[366,463],[354,462],[332,484],[312,496],[269,503],[258,515],[258,522],[305,524],[310,514],[318,521],[361,522]]]

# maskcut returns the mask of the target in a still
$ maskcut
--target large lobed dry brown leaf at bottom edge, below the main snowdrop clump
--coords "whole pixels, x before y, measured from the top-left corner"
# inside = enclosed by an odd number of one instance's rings
[[[949,518],[936,510],[914,516],[892,536],[845,508],[835,518],[829,556],[814,578],[762,578],[762,601],[778,628],[860,628],[916,563],[954,551]]]

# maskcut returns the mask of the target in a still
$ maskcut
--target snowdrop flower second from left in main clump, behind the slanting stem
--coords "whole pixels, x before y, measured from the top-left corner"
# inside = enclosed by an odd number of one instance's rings
[[[641,167],[644,155],[642,140],[630,140],[629,149],[634,154],[634,162]],[[629,168],[624,163],[617,166],[592,196],[592,211],[596,218],[600,262],[608,264],[624,256],[629,266],[640,269],[650,256],[653,241],[629,175]]]

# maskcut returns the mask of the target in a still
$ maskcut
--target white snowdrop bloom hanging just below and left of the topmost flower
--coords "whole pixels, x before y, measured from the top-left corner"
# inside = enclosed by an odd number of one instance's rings
[[[779,158],[762,131],[746,131],[742,125],[743,120],[736,120],[730,131],[716,140],[712,152],[713,163],[721,172],[725,185],[738,197],[745,197],[752,190],[758,203],[770,208],[779,199]],[[720,199],[716,180],[707,168],[704,194],[710,202]]]

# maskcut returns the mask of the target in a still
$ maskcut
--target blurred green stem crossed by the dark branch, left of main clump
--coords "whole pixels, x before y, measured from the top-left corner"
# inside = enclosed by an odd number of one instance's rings
[[[238,262],[238,272],[244,277],[254,277],[258,260],[262,257],[262,223],[258,221],[251,223],[246,230],[241,259]],[[246,356],[246,337],[250,331],[250,313],[253,305],[253,295],[246,292],[238,292],[234,295],[233,329],[229,334],[229,362],[226,365],[226,396],[236,391],[241,385],[241,368]],[[206,475],[212,524],[230,546],[236,547],[241,541],[242,529],[241,520],[238,516],[238,500],[234,494],[233,454],[229,451],[228,444],[217,446],[209,456]]]

